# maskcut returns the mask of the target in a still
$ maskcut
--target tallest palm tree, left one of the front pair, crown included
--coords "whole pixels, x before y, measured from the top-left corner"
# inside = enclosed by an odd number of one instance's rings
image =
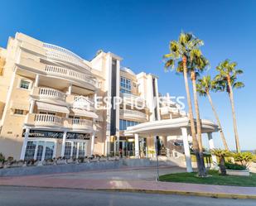
[[[192,103],[191,103],[191,93],[189,90],[188,84],[188,68],[187,64],[193,60],[196,54],[196,50],[200,46],[203,45],[203,41],[196,38],[196,36],[192,35],[191,33],[183,33],[179,36],[178,41],[171,41],[169,45],[170,53],[164,55],[164,58],[167,59],[165,63],[165,69],[174,69],[176,63],[176,72],[182,73],[184,77],[184,83],[186,88],[186,97],[187,97],[187,104],[189,108],[189,118],[191,122],[191,135],[193,140],[193,151],[196,155],[196,162],[197,168],[199,171],[199,176],[205,176],[206,170],[205,165],[202,164],[203,160],[201,160],[200,156],[200,146],[199,142],[196,138],[196,128],[195,128],[195,121],[193,117],[193,110],[192,110]]]

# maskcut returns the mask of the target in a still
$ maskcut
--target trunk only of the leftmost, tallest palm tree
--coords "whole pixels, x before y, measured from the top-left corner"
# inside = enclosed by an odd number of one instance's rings
[[[199,154],[199,146],[198,146],[198,141],[196,139],[196,128],[195,128],[195,122],[194,122],[194,117],[193,117],[193,110],[192,110],[192,103],[191,103],[191,93],[190,89],[188,86],[188,80],[187,80],[187,68],[186,68],[186,56],[183,56],[182,58],[183,62],[183,75],[184,75],[184,83],[185,83],[185,89],[186,89],[186,99],[187,99],[187,105],[188,105],[188,113],[189,113],[189,118],[191,122],[191,135],[192,135],[192,143],[193,143],[193,151],[196,156],[196,163],[197,163],[197,168],[200,172],[200,154]],[[199,174],[200,175],[200,174]]]

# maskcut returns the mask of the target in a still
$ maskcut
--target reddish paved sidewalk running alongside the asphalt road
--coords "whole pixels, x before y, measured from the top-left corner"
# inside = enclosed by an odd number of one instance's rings
[[[129,173],[132,170],[129,169],[120,171]],[[104,171],[102,173],[104,175]],[[65,175],[61,174],[2,177],[0,178],[0,185],[65,189],[107,189],[131,192],[140,191],[158,194],[189,194],[219,198],[256,199],[256,187],[184,184],[156,182],[154,180],[104,180],[96,178],[86,178],[85,172]]]

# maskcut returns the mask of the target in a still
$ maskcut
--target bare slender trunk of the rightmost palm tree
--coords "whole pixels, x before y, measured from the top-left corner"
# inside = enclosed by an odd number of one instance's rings
[[[227,80],[228,80],[228,84],[229,84],[229,99],[230,99],[231,108],[232,108],[235,146],[236,146],[236,151],[240,152],[239,133],[237,131],[236,117],[235,117],[235,113],[234,113],[234,96],[233,96],[233,89],[232,89],[231,80],[230,80],[229,75],[227,76]]]

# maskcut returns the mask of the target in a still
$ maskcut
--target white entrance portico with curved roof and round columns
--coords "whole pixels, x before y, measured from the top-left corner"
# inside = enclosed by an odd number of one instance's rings
[[[218,126],[214,122],[201,119],[202,133],[207,133],[210,149],[214,149],[214,140],[212,132],[218,132]],[[135,156],[139,158],[138,136],[143,137],[160,137],[160,136],[181,136],[183,140],[184,153],[186,157],[186,170],[192,171],[191,152],[189,146],[189,136],[191,135],[191,124],[188,117],[179,117],[167,120],[159,120],[152,122],[145,122],[133,127],[128,127],[125,131],[126,135],[134,136],[135,140]],[[136,152],[137,151],[137,152]],[[216,164],[216,157],[212,156],[214,164]]]

